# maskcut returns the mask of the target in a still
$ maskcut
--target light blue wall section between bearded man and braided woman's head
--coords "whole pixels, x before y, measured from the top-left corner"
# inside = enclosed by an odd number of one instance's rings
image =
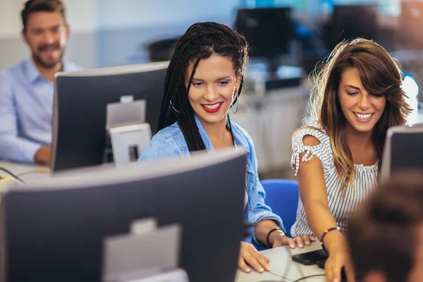
[[[99,66],[144,63],[150,42],[182,35],[192,23],[231,25],[243,0],[97,0]]]

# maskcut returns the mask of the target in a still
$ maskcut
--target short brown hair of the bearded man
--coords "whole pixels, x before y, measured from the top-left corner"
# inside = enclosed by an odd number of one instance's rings
[[[28,16],[36,12],[59,12],[66,21],[65,5],[61,0],[28,0],[25,2],[20,16],[22,18],[23,30],[26,30]]]

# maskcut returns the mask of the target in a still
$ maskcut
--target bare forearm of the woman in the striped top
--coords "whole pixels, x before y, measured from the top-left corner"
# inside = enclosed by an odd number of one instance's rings
[[[309,201],[304,204],[304,208],[307,214],[307,223],[319,240],[327,229],[337,226],[333,214],[324,203],[317,200]],[[327,233],[324,237],[324,247],[329,253],[345,248],[346,240],[344,235],[340,231]]]

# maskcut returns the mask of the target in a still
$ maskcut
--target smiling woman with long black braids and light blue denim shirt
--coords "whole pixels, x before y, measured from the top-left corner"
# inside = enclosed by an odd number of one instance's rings
[[[254,225],[241,243],[238,265],[245,272],[270,270],[269,259],[255,245],[294,248],[314,238],[288,238],[279,216],[264,204],[251,137],[231,123],[228,111],[238,109],[248,44],[238,32],[219,23],[196,23],[176,43],[164,85],[159,132],[140,161],[183,156],[195,151],[244,147],[247,151],[245,221]]]

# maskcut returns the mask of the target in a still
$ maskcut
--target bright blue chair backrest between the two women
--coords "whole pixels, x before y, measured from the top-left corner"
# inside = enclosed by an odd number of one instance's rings
[[[267,179],[260,181],[266,192],[266,204],[281,216],[287,235],[295,223],[298,207],[298,182],[286,179]]]

